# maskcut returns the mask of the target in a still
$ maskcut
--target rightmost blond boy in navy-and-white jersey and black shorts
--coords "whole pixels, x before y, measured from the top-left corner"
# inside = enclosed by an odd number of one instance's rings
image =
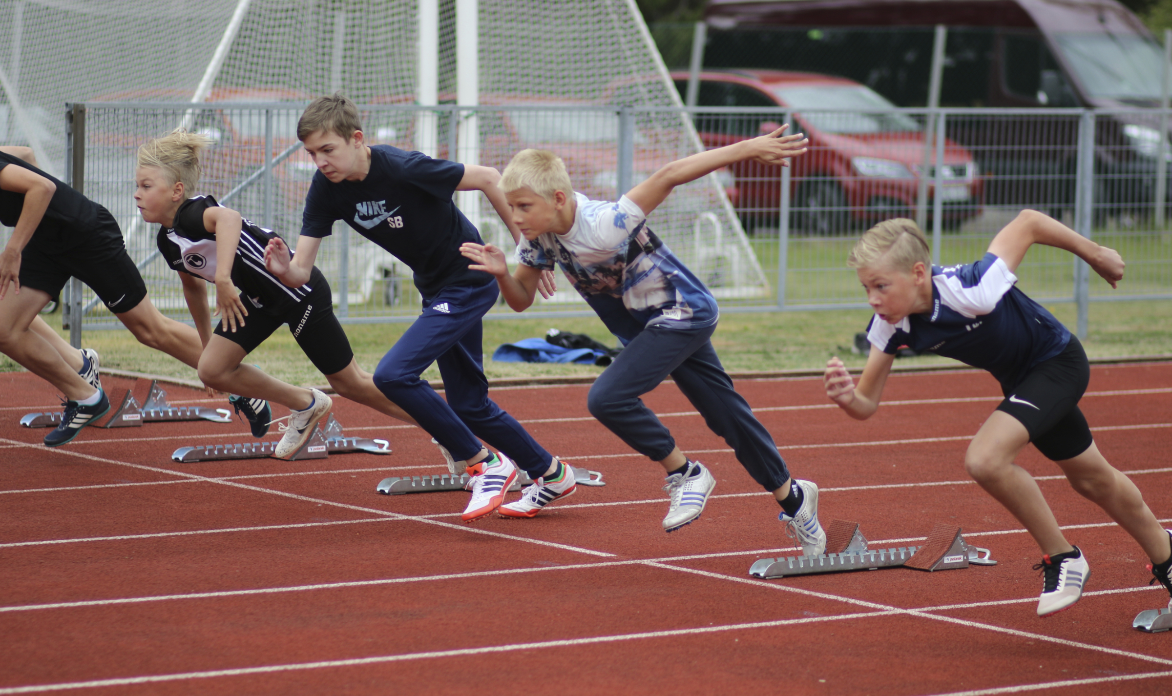
[[[1071,546],[1034,477],[1014,464],[1028,443],[1054,460],[1071,486],[1102,507],[1143,547],[1149,568],[1172,593],[1172,541],[1139,489],[1099,453],[1078,400],[1090,364],[1078,339],[1042,306],[1014,287],[1014,271],[1034,244],[1077,254],[1111,287],[1123,278],[1123,259],[1062,223],[1022,211],[976,262],[932,265],[927,239],[914,221],[875,225],[854,245],[856,268],[874,308],[867,337],[871,355],[858,387],[843,362],[826,366],[826,395],[851,417],[879,408],[895,350],[904,344],[989,370],[1006,398],[969,443],[969,475],[1016,517],[1041,547],[1044,584],[1037,613],[1047,616],[1082,596],[1090,566]],[[1172,606],[1172,605],[1170,605]]]

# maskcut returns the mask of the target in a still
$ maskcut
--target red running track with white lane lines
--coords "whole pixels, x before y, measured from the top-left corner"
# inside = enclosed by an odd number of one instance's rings
[[[107,377],[111,398],[145,383]],[[872,546],[963,527],[994,567],[761,581],[796,553],[777,505],[672,384],[647,398],[710,464],[704,516],[665,534],[662,472],[586,412],[587,387],[493,390],[554,453],[605,473],[533,520],[463,525],[466,493],[386,497],[387,476],[443,471],[427,436],[353,403],[353,435],[395,453],[175,464],[184,444],[246,442],[213,423],[87,430],[57,450],[18,425],[53,391],[0,375],[0,695],[1165,694],[1172,633],[1131,628],[1167,596],[1138,546],[1029,449],[1089,592],[1035,615],[1036,547],[967,479],[968,438],[999,400],[973,371],[892,376],[872,421],[820,381],[738,388],[820,517]],[[204,396],[169,387],[173,403]],[[1172,521],[1172,364],[1097,367],[1083,401],[1108,458]],[[284,415],[284,414],[278,414]],[[270,436],[271,438],[274,436]],[[516,493],[513,494],[516,496]]]

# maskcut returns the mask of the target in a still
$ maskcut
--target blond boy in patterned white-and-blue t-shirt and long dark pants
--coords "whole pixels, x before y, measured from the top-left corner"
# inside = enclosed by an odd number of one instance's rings
[[[639,398],[670,375],[680,391],[724,438],[749,475],[781,504],[808,554],[823,553],[818,486],[793,480],[774,438],[732,388],[710,341],[720,311],[708,288],[647,228],[647,216],[675,186],[742,159],[785,163],[805,151],[800,135],[775,132],[673,162],[618,203],[574,193],[565,164],[552,152],[524,150],[505,169],[500,187],[525,239],[509,275],[505,255],[492,245],[464,244],[471,268],[496,277],[509,306],[533,303],[538,279],[557,264],[625,344],[591,387],[591,414],[667,472],[670,505],[663,528],[675,531],[700,517],[716,479],[688,459],[668,429]]]

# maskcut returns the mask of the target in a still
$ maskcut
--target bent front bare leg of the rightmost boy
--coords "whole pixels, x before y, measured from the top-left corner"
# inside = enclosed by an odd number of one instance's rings
[[[1027,444],[1029,432],[1021,421],[1004,411],[993,411],[969,443],[965,468],[986,492],[1022,523],[1042,553],[1058,555],[1074,551],[1075,547],[1062,535],[1037,482],[1014,464],[1014,457]]]

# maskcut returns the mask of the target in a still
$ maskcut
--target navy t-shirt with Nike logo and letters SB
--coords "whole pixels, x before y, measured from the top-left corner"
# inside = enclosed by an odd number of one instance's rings
[[[334,220],[343,220],[410,266],[424,299],[448,286],[486,285],[492,275],[469,271],[459,253],[465,241],[483,244],[451,198],[463,177],[457,162],[372,145],[370,172],[361,182],[335,184],[320,171],[313,176],[301,234],[328,237]]]

